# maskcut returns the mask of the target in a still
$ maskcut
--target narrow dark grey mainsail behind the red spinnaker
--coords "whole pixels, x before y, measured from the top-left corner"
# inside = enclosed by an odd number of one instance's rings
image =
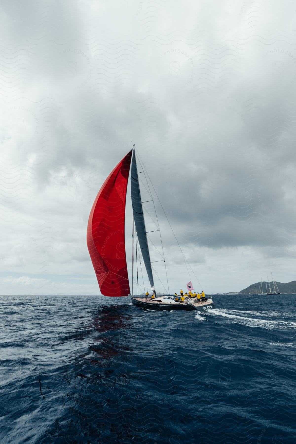
[[[151,268],[150,254],[147,242],[147,234],[145,228],[145,220],[142,208],[140,186],[138,180],[138,169],[136,163],[135,152],[133,154],[133,159],[131,162],[131,173],[130,173],[130,189],[131,189],[131,202],[133,206],[134,223],[136,226],[136,232],[138,236],[138,241],[142,251],[143,261],[146,267],[147,275],[150,281],[151,287],[154,287],[153,274]]]

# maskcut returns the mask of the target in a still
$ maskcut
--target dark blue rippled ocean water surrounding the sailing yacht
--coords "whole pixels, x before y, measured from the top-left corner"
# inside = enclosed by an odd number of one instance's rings
[[[295,443],[296,296],[0,297],[1,443]]]

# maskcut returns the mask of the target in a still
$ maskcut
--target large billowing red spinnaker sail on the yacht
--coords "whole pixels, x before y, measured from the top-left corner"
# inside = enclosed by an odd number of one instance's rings
[[[115,166],[95,198],[87,225],[87,248],[104,296],[130,293],[124,222],[132,150]]]

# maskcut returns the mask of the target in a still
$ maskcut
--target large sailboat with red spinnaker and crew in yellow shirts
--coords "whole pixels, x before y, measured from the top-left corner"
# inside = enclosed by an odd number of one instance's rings
[[[138,242],[142,253],[152,297],[134,295],[133,291],[130,294],[125,248],[125,210],[129,176],[133,208],[133,238],[135,237],[136,247]],[[142,203],[136,153],[133,147],[103,183],[88,219],[87,248],[101,293],[111,297],[130,296],[135,306],[146,310],[206,311],[215,308],[212,297],[207,297],[204,301],[197,298],[186,298],[181,301],[180,298],[171,294],[156,296]],[[134,254],[132,264],[134,265]],[[134,270],[132,288],[133,284]]]

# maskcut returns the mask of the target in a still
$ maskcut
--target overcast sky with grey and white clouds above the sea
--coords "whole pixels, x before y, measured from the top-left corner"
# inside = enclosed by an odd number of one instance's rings
[[[87,220],[131,141],[206,293],[295,280],[295,16],[290,0],[2,1],[1,293],[99,294]],[[174,293],[188,272],[155,200]],[[129,202],[129,267],[130,223]]]

